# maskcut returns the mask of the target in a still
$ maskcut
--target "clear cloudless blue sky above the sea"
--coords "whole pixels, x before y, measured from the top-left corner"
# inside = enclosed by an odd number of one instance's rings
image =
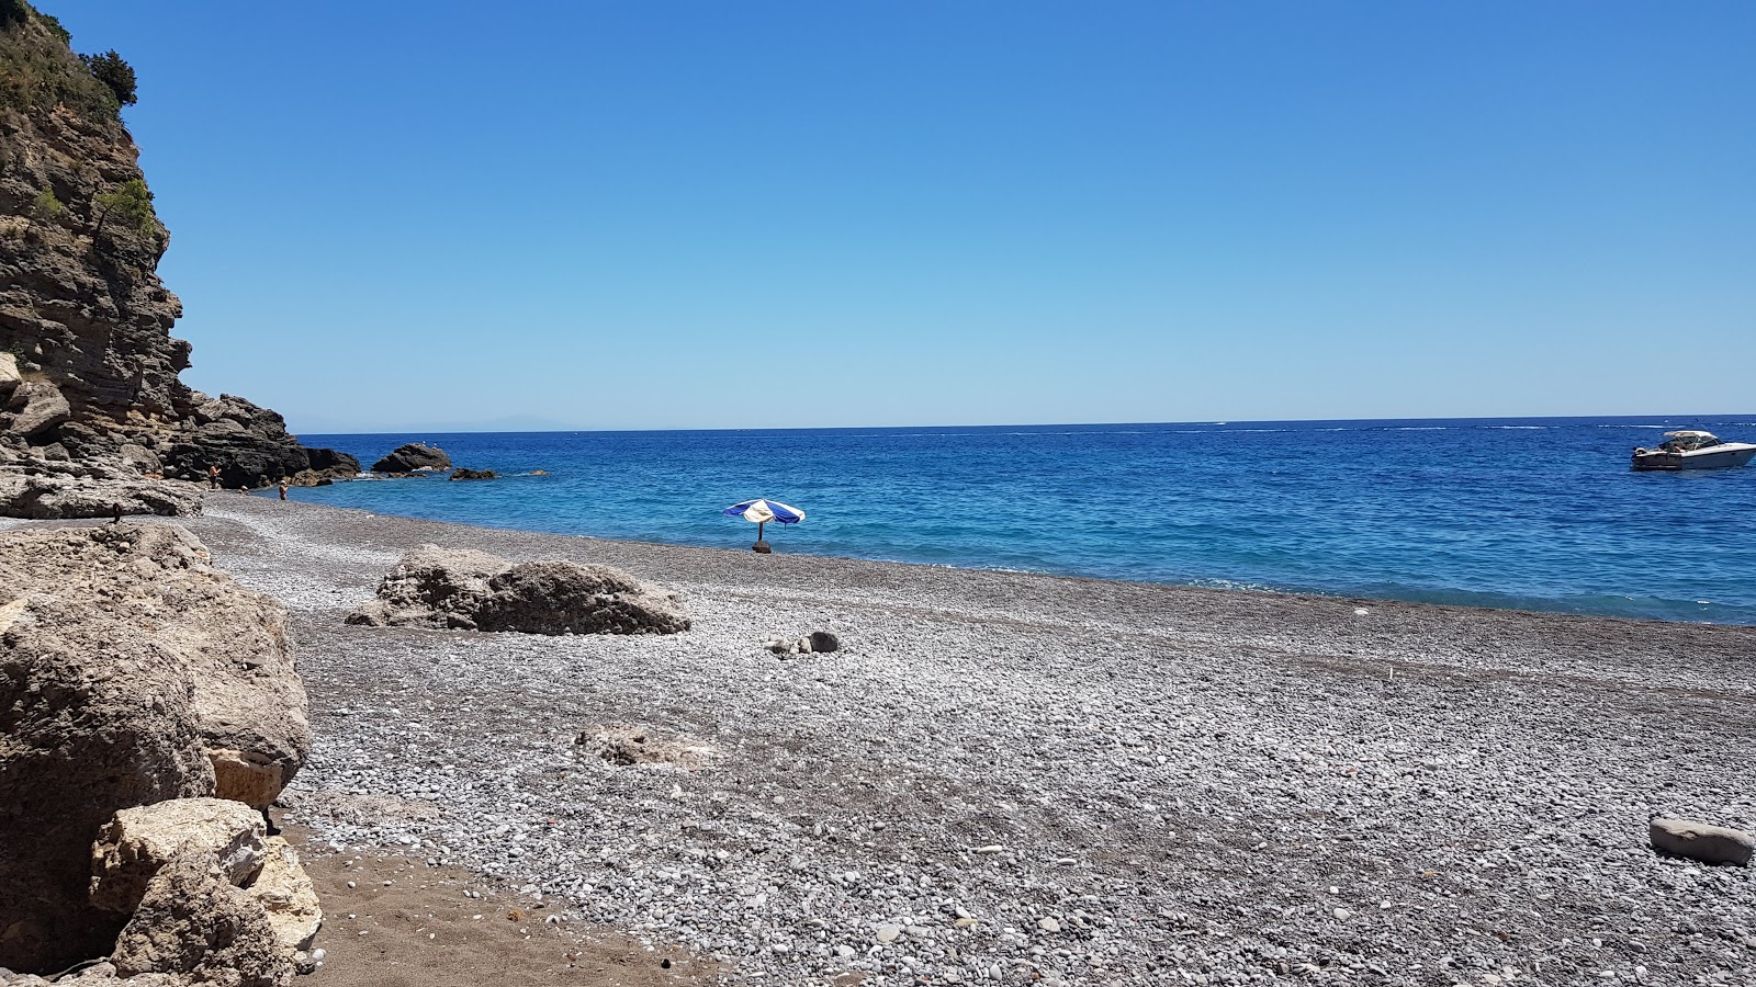
[[[39,0],[295,430],[1756,411],[1756,4]]]

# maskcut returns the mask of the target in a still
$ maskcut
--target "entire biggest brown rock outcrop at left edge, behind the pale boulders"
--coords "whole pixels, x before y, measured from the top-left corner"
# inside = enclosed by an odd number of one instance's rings
[[[0,966],[109,952],[118,810],[272,799],[311,748],[284,616],[172,525],[0,534]],[[225,771],[216,773],[216,764]]]

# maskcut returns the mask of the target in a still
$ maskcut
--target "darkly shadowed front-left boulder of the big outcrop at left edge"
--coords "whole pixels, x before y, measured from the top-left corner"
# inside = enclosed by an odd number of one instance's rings
[[[0,966],[109,952],[126,917],[91,906],[91,839],[118,808],[212,794],[181,657],[76,594],[30,594],[0,546]],[[21,588],[25,592],[21,592]]]

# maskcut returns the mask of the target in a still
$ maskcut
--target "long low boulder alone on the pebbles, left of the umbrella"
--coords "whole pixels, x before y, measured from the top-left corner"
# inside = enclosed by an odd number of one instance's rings
[[[674,634],[688,630],[676,594],[609,566],[511,564],[486,551],[423,544],[397,562],[378,599],[348,615],[371,627],[525,634]]]

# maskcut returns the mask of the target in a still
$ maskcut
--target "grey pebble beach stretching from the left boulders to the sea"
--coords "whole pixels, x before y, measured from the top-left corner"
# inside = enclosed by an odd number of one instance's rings
[[[316,748],[283,803],[320,854],[481,873],[727,982],[1756,983],[1756,873],[1647,845],[1756,825],[1752,627],[235,494],[183,523],[291,613]],[[694,627],[344,623],[420,544],[616,566]],[[762,646],[813,630],[841,650]]]

